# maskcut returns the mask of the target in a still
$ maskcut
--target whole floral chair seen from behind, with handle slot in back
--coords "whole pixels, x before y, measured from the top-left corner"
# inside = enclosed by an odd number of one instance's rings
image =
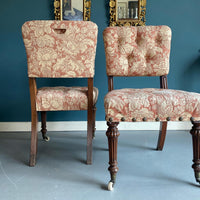
[[[87,110],[87,164],[92,164],[95,104],[93,87],[97,26],[86,21],[29,21],[22,26],[27,54],[31,97],[30,166],[36,164],[37,122],[41,112],[42,135],[46,135],[46,112]],[[36,78],[87,78],[87,87],[37,88]]]

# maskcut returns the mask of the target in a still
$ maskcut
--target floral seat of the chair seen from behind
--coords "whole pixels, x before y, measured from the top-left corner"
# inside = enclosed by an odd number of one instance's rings
[[[36,96],[37,111],[87,110],[87,87],[43,87]],[[98,89],[93,88],[93,104]]]

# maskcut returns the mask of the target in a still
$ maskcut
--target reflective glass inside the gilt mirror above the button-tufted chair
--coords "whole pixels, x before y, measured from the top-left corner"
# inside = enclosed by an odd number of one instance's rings
[[[138,19],[139,0],[119,0],[117,2],[117,19]]]

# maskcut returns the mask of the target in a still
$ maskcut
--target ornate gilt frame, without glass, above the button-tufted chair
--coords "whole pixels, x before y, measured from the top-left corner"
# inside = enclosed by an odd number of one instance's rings
[[[117,19],[117,1],[110,0],[110,26],[144,26],[146,22],[146,0],[139,0],[138,19]]]

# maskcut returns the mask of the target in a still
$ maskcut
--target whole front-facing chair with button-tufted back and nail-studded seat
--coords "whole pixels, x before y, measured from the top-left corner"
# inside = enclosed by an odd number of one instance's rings
[[[195,178],[200,182],[200,94],[167,87],[171,30],[167,26],[108,27],[103,32],[109,92],[104,98],[112,190],[116,180],[119,122],[157,121],[162,150],[167,121],[191,121]],[[117,89],[114,77],[159,76],[160,88]]]

